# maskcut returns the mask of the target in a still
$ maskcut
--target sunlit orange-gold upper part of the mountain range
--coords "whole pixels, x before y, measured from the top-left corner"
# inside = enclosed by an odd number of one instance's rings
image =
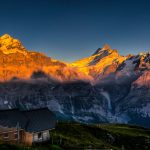
[[[0,37],[0,57],[2,59],[0,66],[3,66],[0,69],[0,75],[2,75],[0,79],[1,81],[10,80],[13,78],[13,74],[14,77],[22,78],[24,76],[24,79],[29,79],[34,71],[39,70],[60,81],[82,80],[85,78],[85,80],[92,82],[97,80],[99,76],[106,77],[111,73],[117,72],[125,61],[128,64],[133,57],[140,57],[140,65],[146,66],[148,63],[143,60],[147,59],[149,61],[149,55],[148,53],[137,56],[122,56],[116,49],[111,49],[108,44],[104,44],[93,55],[69,64],[48,57],[40,52],[29,51],[25,49],[18,39],[5,34]],[[143,62],[144,64],[142,64]],[[19,66],[23,66],[26,73],[22,73],[22,75],[17,73],[13,66],[18,67],[19,70],[21,69]]]

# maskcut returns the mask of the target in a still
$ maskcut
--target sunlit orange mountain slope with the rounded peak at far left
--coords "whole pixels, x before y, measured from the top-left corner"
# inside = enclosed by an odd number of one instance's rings
[[[83,78],[84,73],[46,55],[28,51],[17,39],[5,34],[0,37],[0,80],[29,79],[34,72],[43,71],[59,81]],[[89,77],[87,76],[88,79]]]

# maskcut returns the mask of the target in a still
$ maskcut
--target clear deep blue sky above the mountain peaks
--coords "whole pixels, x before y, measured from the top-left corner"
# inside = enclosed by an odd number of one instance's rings
[[[150,50],[150,0],[1,0],[0,35],[63,61],[108,43],[121,54]]]

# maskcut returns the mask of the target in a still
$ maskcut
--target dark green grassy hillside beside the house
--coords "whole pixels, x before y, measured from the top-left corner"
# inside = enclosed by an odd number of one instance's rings
[[[11,148],[11,146],[5,145],[5,150],[6,147],[11,150],[15,146]],[[51,131],[51,140],[48,143],[30,148],[20,147],[18,150],[23,148],[24,150],[78,150],[88,148],[148,150],[150,149],[150,130],[123,124],[85,125],[61,122],[55,130]],[[0,145],[0,149],[4,150],[4,145]]]

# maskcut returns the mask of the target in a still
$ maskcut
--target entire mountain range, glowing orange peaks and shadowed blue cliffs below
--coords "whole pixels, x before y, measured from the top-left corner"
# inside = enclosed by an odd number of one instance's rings
[[[49,107],[58,119],[150,127],[150,52],[108,44],[71,64],[0,38],[0,109]]]

